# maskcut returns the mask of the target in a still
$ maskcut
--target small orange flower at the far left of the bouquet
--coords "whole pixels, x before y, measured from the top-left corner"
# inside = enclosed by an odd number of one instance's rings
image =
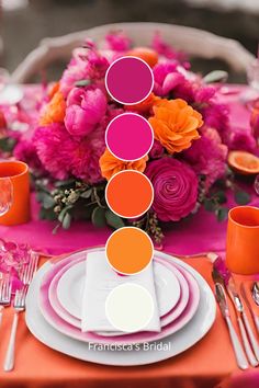
[[[57,91],[50,102],[46,105],[43,116],[41,117],[41,125],[48,125],[53,123],[63,123],[66,113],[66,101],[61,92]]]

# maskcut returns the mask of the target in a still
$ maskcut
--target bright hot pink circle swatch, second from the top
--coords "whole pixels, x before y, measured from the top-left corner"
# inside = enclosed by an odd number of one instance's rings
[[[134,161],[146,156],[154,141],[148,121],[136,113],[123,113],[111,121],[105,141],[114,157]]]

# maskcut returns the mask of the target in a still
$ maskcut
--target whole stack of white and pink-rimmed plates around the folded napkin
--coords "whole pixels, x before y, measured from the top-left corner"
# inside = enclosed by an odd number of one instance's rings
[[[124,335],[81,332],[87,253],[47,262],[26,299],[26,324],[44,344],[70,356],[106,365],[144,365],[172,357],[201,340],[215,320],[213,293],[190,265],[155,251],[154,272],[161,331]],[[115,345],[115,346],[114,346]],[[122,357],[123,352],[123,357]]]

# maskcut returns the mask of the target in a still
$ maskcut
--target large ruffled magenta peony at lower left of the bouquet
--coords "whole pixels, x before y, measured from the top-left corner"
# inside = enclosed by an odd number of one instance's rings
[[[70,136],[63,124],[55,123],[38,127],[34,144],[40,160],[53,178],[75,176],[88,183],[102,180],[99,168],[99,159],[105,149],[102,127],[79,139]]]

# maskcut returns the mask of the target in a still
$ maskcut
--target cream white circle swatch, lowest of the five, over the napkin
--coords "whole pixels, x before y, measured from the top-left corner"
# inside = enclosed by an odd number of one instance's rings
[[[127,333],[144,330],[154,315],[153,297],[138,284],[121,284],[109,294],[105,313],[116,330]]]

